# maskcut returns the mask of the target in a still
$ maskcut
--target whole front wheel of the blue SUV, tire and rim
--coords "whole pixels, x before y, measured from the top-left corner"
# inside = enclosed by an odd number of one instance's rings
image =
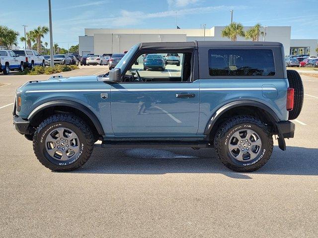
[[[89,159],[94,137],[89,126],[71,114],[56,114],[43,120],[33,137],[37,159],[52,171],[72,171]]]

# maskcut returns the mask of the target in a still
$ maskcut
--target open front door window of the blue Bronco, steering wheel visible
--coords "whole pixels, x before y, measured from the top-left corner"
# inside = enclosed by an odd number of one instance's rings
[[[191,53],[142,54],[128,69],[125,82],[190,81]]]

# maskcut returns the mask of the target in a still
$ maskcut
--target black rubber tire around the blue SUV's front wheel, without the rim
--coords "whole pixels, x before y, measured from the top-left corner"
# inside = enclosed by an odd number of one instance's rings
[[[46,151],[45,140],[50,131],[57,127],[67,127],[79,137],[80,153],[72,161],[58,161]],[[72,114],[56,114],[43,120],[33,136],[33,150],[37,159],[52,171],[73,171],[81,167],[89,159],[94,145],[94,136],[89,126],[79,117]],[[61,163],[66,162],[66,163]],[[63,164],[63,165],[59,165]],[[66,165],[64,165],[66,164]]]

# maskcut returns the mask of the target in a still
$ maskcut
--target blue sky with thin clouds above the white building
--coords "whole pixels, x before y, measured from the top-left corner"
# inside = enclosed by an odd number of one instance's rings
[[[318,0],[51,0],[53,40],[67,48],[78,44],[84,28],[181,28],[200,24],[291,26],[292,39],[318,39]],[[28,2],[28,4],[26,4]],[[0,25],[23,36],[38,25],[48,26],[47,0],[1,0]],[[5,7],[3,7],[5,6]],[[49,42],[49,35],[44,38]],[[19,46],[24,44],[19,42]]]

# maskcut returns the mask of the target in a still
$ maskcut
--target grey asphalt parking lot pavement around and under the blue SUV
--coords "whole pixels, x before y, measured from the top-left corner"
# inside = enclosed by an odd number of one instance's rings
[[[98,75],[80,66],[64,76]],[[12,125],[15,89],[48,75],[0,74],[1,237],[318,237],[318,78],[287,151],[239,174],[214,149],[102,149],[79,170],[43,167]]]

